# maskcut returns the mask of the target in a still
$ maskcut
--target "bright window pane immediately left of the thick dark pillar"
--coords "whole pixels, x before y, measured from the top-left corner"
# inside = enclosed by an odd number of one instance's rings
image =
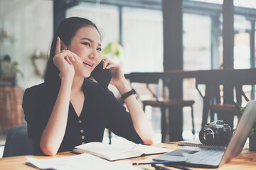
[[[124,72],[162,72],[163,21],[161,11],[124,8]]]

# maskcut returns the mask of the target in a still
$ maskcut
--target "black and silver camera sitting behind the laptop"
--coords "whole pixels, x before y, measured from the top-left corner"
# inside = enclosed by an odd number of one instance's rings
[[[199,132],[199,140],[205,145],[228,145],[231,136],[231,128],[223,120],[208,123]]]

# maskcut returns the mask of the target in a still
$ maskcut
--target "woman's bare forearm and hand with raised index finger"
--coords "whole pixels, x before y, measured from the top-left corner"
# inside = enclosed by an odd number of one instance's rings
[[[41,136],[40,147],[44,154],[53,156],[58,152],[68,120],[70,105],[70,93],[75,74],[72,62],[80,62],[80,58],[70,51],[60,52],[60,38],[57,40],[55,57],[53,62],[60,70],[60,91],[55,101],[46,128]]]

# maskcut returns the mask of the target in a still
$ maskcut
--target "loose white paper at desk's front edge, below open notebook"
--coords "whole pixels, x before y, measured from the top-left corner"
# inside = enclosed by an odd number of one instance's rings
[[[91,154],[79,154],[70,157],[60,157],[53,159],[36,159],[28,157],[26,164],[34,166],[38,169],[61,169],[61,170],[74,170],[74,169],[111,169],[111,170],[139,170],[137,167],[128,164],[127,162],[109,162],[105,159],[95,157]]]

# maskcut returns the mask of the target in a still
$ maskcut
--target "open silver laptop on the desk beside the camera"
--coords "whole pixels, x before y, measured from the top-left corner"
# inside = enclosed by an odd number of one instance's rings
[[[180,147],[172,152],[154,157],[154,161],[181,162],[188,166],[218,168],[237,157],[245,145],[252,125],[256,120],[256,101],[249,101],[238,126],[230,139],[227,149],[202,147]]]

